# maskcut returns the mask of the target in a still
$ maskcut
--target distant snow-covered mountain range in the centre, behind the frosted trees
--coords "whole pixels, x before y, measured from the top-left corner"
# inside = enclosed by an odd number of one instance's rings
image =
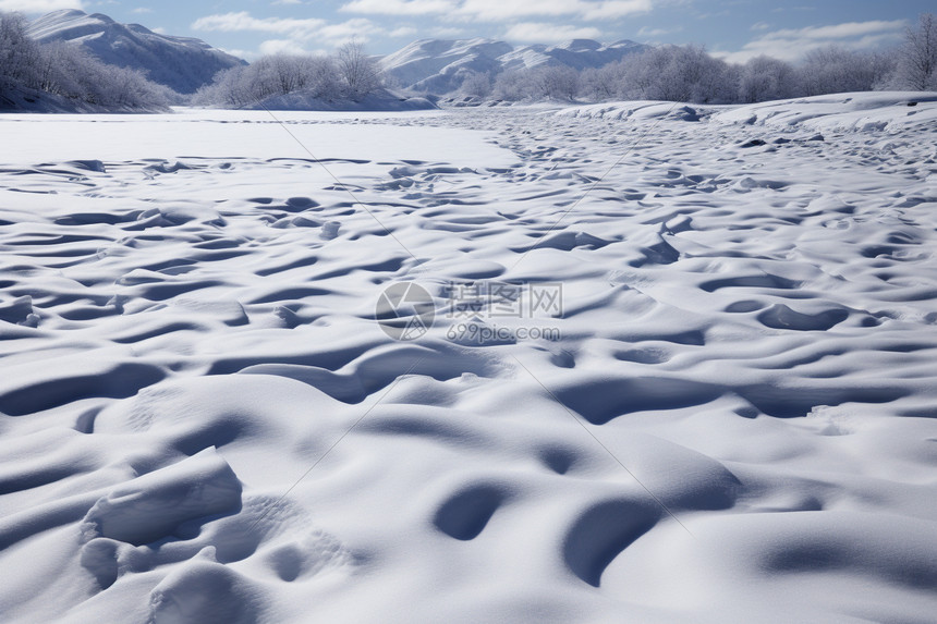
[[[569,65],[576,70],[600,68],[646,48],[629,40],[605,45],[592,39],[573,39],[558,46],[515,48],[492,39],[421,39],[385,57],[380,64],[401,87],[446,94],[457,89],[470,72],[494,76],[506,70],[537,65]]]

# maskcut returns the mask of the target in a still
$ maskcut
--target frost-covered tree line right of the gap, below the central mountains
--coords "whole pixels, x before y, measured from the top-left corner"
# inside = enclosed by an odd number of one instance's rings
[[[880,52],[816,49],[796,65],[766,56],[732,64],[699,46],[660,46],[581,72],[561,65],[496,76],[465,72],[459,93],[503,101],[749,103],[848,91],[937,90],[937,19],[922,15],[904,39],[901,48]]]

